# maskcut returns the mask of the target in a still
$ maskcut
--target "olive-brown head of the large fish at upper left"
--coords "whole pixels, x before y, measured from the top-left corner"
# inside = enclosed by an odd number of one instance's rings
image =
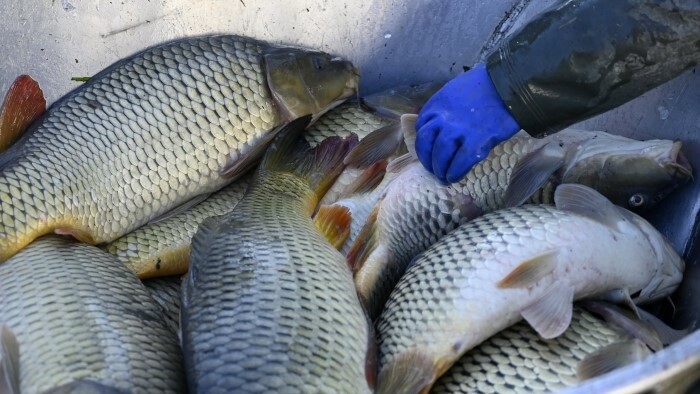
[[[287,121],[323,113],[357,95],[359,70],[324,52],[275,48],[264,55],[267,83]]]

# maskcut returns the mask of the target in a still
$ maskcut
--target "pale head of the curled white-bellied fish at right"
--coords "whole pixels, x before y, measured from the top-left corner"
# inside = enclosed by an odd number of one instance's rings
[[[632,295],[632,300],[637,304],[661,299],[671,295],[683,279],[685,261],[678,254],[676,248],[664,237],[651,223],[621,207],[616,207],[623,216],[646,238],[654,251],[654,274],[649,283]]]

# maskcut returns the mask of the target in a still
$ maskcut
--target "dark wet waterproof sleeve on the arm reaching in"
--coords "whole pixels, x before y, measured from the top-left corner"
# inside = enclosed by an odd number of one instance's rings
[[[569,0],[508,37],[487,70],[520,126],[560,130],[700,60],[697,0]]]

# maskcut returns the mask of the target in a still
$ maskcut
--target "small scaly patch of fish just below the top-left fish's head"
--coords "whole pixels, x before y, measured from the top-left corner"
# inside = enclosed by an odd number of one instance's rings
[[[320,144],[328,137],[346,138],[351,133],[362,140],[374,130],[395,122],[365,111],[357,103],[343,103],[321,116],[304,133],[304,138],[311,146]]]

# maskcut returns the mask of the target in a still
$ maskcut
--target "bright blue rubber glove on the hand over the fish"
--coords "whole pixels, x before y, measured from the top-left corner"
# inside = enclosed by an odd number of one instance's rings
[[[455,77],[425,103],[416,121],[416,153],[445,183],[457,182],[489,151],[520,130],[486,66]]]

